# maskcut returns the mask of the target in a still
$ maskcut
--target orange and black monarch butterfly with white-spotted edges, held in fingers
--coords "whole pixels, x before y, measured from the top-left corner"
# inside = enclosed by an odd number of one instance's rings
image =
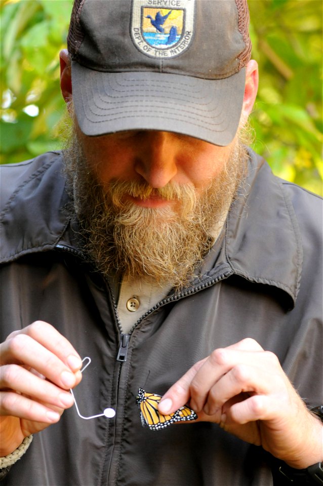
[[[148,425],[150,430],[164,429],[174,422],[197,419],[195,412],[185,405],[180,407],[173,414],[160,414],[158,412],[160,398],[162,398],[161,395],[157,395],[156,393],[146,393],[143,388],[138,389],[136,402],[140,410],[141,424],[143,426]]]

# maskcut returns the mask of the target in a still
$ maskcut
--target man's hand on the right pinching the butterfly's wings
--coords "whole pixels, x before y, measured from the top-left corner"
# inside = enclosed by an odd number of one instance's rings
[[[308,412],[278,358],[253,339],[198,361],[159,402],[168,414],[189,403],[198,421],[262,446],[295,468],[322,461],[323,428]]]

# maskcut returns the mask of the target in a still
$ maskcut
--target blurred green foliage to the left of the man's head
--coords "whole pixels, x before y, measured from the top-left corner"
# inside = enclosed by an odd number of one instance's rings
[[[72,0],[0,4],[3,164],[59,148],[57,124],[65,110],[59,51],[66,47],[71,9]],[[35,117],[23,112],[30,104],[39,110]]]

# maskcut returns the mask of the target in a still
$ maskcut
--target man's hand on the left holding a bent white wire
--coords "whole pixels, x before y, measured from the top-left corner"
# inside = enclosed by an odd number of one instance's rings
[[[0,456],[24,437],[58,422],[73,404],[68,392],[82,379],[82,361],[47,322],[36,321],[0,344]]]

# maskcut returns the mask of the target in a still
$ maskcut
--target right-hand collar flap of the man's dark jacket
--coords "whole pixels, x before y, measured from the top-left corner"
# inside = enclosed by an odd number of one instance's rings
[[[262,157],[252,150],[249,154],[247,180],[230,208],[220,240],[206,258],[203,273],[214,277],[216,259],[223,272],[284,291],[293,307],[303,262],[299,225],[280,179]]]

